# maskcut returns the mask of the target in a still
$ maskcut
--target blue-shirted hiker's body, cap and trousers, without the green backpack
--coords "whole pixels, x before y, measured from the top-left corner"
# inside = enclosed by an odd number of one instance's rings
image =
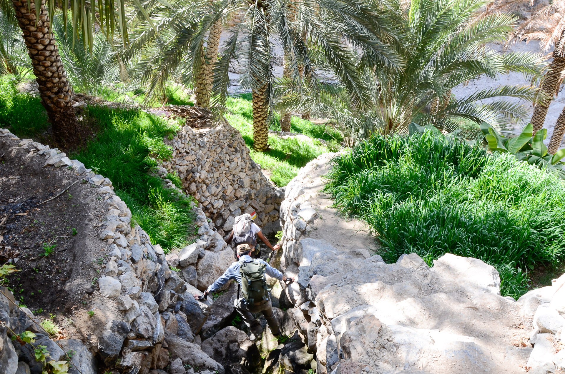
[[[242,288],[246,288],[247,284],[242,284],[242,272],[240,271],[241,267],[247,263],[254,262],[258,264],[264,265],[264,273],[268,276],[276,278],[278,280],[286,281],[294,281],[293,277],[285,277],[282,275],[280,271],[270,266],[268,263],[264,262],[262,259],[252,259],[251,256],[251,247],[249,244],[241,244],[237,246],[237,258],[239,259],[238,262],[234,262],[231,266],[221,275],[212,285],[208,287],[208,289],[204,292],[202,296],[194,295],[194,298],[197,300],[206,299],[208,294],[212,292],[216,292],[221,288],[221,286],[225,285],[229,280],[234,279],[242,286]],[[264,277],[264,275],[263,275]],[[265,283],[266,285],[266,283]],[[244,292],[245,295],[245,292]],[[239,296],[239,295],[238,295]],[[266,299],[262,299],[260,301],[251,300],[246,301],[245,297],[241,297],[236,299],[233,303],[233,306],[236,308],[236,311],[241,315],[241,318],[244,320],[247,327],[251,330],[252,335],[250,336],[251,340],[255,340],[263,333],[263,329],[259,322],[253,317],[252,313],[262,312],[267,320],[269,327],[271,328],[271,332],[274,336],[278,337],[280,335],[279,332],[279,323],[273,314],[273,307],[271,305],[271,299],[268,298],[268,294]]]

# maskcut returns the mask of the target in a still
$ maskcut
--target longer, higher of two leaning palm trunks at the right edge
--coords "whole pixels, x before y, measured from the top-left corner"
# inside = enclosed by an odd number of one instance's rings
[[[551,62],[549,70],[545,73],[544,79],[541,83],[541,91],[542,93],[545,93],[545,97],[543,97],[533,109],[532,119],[530,122],[533,125],[534,134],[544,127],[547,109],[549,108],[555,93],[557,93],[557,90],[559,89],[561,73],[563,72],[563,69],[565,69],[565,56],[560,56],[558,53],[559,45],[565,42],[563,39],[564,34],[562,33],[559,43],[555,46],[553,51],[553,61]]]

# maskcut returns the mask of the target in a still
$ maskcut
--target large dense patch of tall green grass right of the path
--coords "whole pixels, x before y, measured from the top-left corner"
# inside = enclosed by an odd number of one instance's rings
[[[374,137],[334,160],[327,190],[345,214],[365,220],[392,262],[445,253],[496,267],[503,295],[527,290],[527,269],[565,252],[565,185],[511,155],[425,133]]]

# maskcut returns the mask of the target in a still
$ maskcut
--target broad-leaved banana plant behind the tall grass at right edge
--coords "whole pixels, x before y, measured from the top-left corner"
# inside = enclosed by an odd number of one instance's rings
[[[485,136],[488,147],[492,152],[510,153],[520,161],[535,165],[540,169],[555,173],[561,179],[565,179],[565,148],[558,150],[554,155],[547,153],[544,140],[547,137],[547,129],[541,129],[532,136],[533,126],[531,123],[514,138],[507,138],[499,134],[492,125],[483,122],[481,131]]]

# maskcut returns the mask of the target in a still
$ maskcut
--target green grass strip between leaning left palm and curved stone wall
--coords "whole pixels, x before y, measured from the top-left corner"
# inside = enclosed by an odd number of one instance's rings
[[[194,233],[190,200],[163,188],[162,180],[147,173],[157,166],[155,158],[171,156],[163,137],[176,133],[179,126],[143,111],[89,106],[85,115],[95,121],[98,134],[72,156],[110,178],[151,242],[165,250],[187,245]]]

